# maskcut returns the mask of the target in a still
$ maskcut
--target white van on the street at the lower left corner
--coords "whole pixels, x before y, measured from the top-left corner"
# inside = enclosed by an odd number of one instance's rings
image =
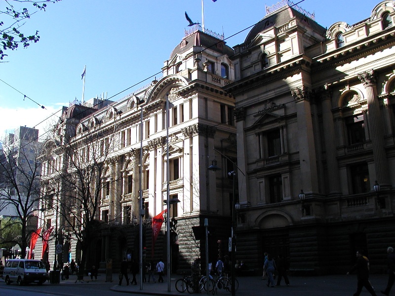
[[[5,263],[2,278],[7,285],[15,281],[19,286],[28,283],[42,285],[47,280],[47,273],[40,260],[9,259]]]

